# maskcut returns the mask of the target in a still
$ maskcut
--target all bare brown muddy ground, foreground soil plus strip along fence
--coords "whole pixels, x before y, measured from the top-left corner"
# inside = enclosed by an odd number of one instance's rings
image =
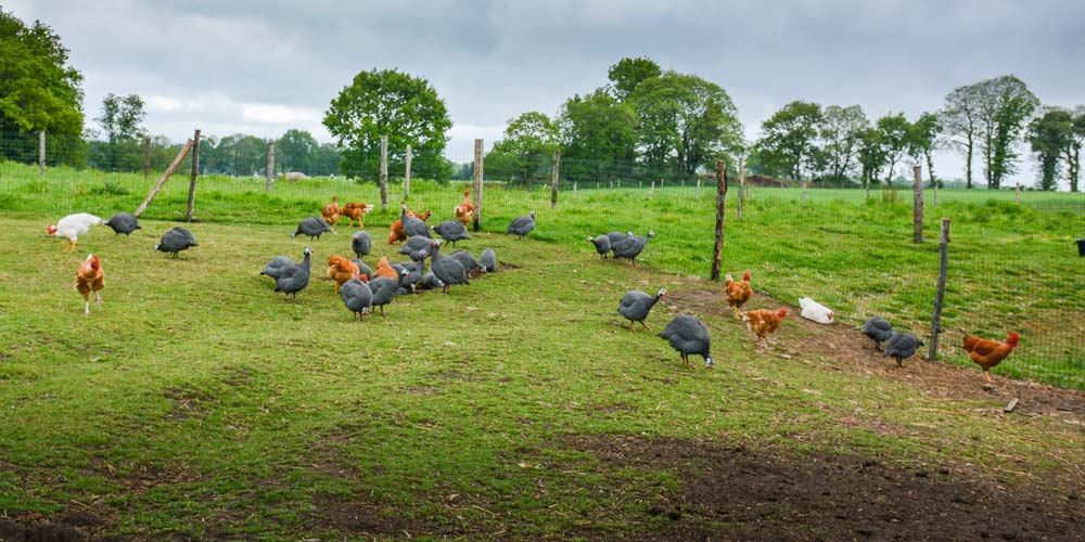
[[[689,280],[671,293],[668,302],[729,318],[718,288],[703,282]],[[777,307],[777,301],[758,296],[748,308]],[[773,337],[770,351],[789,362],[902,382],[944,400],[1018,399],[1012,413],[999,415],[1052,416],[1085,430],[1081,392],[999,376],[985,385],[978,370],[917,358],[906,360],[902,369],[878,356],[857,330],[816,324],[797,312],[786,325],[792,333]],[[809,335],[817,340],[809,340]],[[681,483],[676,490],[650,492],[609,488],[618,493],[628,490],[628,502],[639,511],[641,517],[628,524],[630,532],[587,525],[549,537],[552,540],[1085,540],[1085,473],[1024,483],[962,465],[903,468],[824,453],[797,460],[714,441],[637,436],[578,435],[553,446],[589,453],[609,469],[671,470]],[[1083,457],[1068,460],[1080,469],[1085,451]],[[164,478],[163,483],[171,481],[168,475]],[[132,483],[146,486],[148,480]],[[462,524],[430,525],[397,517],[395,507],[365,500],[318,494],[314,504],[307,530],[335,530],[346,539],[526,538],[515,534],[514,527],[482,531]],[[117,512],[107,508],[73,505],[56,517],[5,514],[0,517],[0,541],[133,540],[114,534]],[[168,539],[189,537],[178,533]]]

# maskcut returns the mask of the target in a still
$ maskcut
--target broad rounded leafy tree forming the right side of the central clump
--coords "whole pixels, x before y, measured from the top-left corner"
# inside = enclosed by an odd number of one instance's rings
[[[727,92],[694,75],[666,72],[646,79],[628,99],[640,118],[640,149],[653,167],[678,177],[740,152],[742,124]]]

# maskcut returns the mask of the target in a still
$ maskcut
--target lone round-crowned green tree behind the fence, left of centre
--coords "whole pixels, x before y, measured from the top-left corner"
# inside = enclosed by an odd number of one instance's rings
[[[344,149],[340,167],[348,177],[378,181],[382,134],[388,137],[390,170],[403,169],[410,144],[416,175],[451,175],[442,153],[452,121],[445,101],[421,77],[395,69],[361,72],[332,100],[323,124]]]

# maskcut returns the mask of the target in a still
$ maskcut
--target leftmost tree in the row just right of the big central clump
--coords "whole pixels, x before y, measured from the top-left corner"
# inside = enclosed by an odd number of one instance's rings
[[[817,152],[818,129],[822,126],[821,105],[796,100],[762,122],[757,141],[762,166],[800,180],[803,169],[812,170]]]

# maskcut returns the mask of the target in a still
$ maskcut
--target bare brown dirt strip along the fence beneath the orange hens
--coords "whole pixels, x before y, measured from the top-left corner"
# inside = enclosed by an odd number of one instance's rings
[[[688,288],[667,294],[668,304],[698,313],[733,320],[724,298],[723,286],[709,287],[703,281],[686,280]],[[980,372],[940,361],[928,361],[919,356],[904,360],[898,367],[892,358],[883,358],[873,341],[857,328],[842,324],[824,325],[799,315],[799,308],[781,304],[757,294],[743,309],[776,309],[782,306],[792,311],[787,321],[769,337],[770,351],[787,356],[789,362],[806,363],[830,371],[846,371],[901,382],[917,388],[921,393],[949,400],[998,400],[1004,404],[1012,399],[1019,402],[1014,412],[1024,415],[1054,416],[1085,431],[1085,393],[1057,388],[1032,380],[1019,380],[992,375],[994,384],[985,386]],[[736,325],[742,325],[736,322]],[[744,330],[744,326],[743,326]],[[952,333],[943,340],[954,340]],[[750,341],[753,343],[753,334]],[[920,354],[926,349],[920,349]],[[1005,363],[1012,363],[1010,358]]]

